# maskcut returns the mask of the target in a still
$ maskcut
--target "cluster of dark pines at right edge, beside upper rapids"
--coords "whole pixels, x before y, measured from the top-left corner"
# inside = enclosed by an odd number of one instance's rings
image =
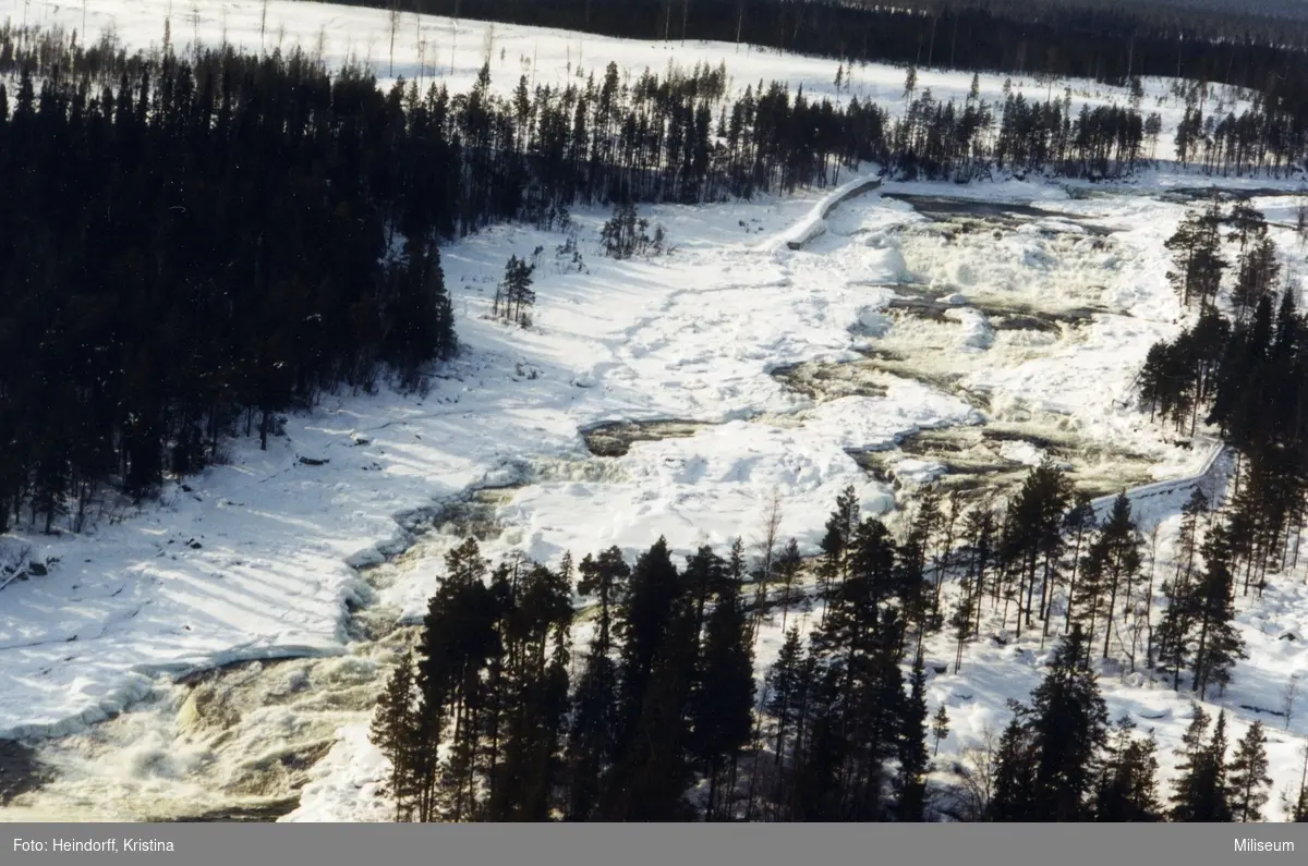
[[[1223,528],[1243,593],[1298,564],[1308,493],[1308,320],[1262,215],[1196,208],[1168,241],[1169,277],[1198,319],[1150,349],[1142,403],[1193,433],[1216,425],[1239,454]],[[1230,260],[1233,252],[1235,267]],[[1230,317],[1222,311],[1230,310]]]

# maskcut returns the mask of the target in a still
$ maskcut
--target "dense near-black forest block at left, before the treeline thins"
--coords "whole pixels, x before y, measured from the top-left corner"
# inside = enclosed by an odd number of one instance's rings
[[[232,52],[139,72],[0,85],[0,531],[24,506],[80,530],[106,481],[145,494],[225,433],[266,445],[286,408],[455,351],[371,78]]]

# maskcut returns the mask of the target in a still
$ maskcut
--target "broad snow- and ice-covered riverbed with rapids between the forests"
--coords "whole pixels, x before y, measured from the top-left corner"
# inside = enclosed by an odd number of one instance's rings
[[[812,196],[655,208],[679,250],[649,262],[599,255],[602,213],[578,215],[583,269],[552,255],[562,237],[515,226],[447,247],[467,351],[428,395],[335,399],[289,419],[267,454],[238,442],[230,466],[162,508],[86,539],[31,539],[60,561],[0,594],[7,634],[33,638],[0,645],[8,670],[27,665],[0,708],[12,733],[72,735],[37,744],[54,778],[9,814],[383,819],[370,699],[395,628],[420,616],[463,531],[490,555],[549,561],[634,552],[651,534],[685,551],[755,534],[780,492],[782,532],[812,552],[845,485],[887,513],[918,483],[965,475],[939,449],[914,450],[931,437],[982,437],[1011,477],[1045,453],[1100,487],[1194,471],[1203,454],[1168,442],[1125,399],[1148,344],[1179,327],[1156,249],[1180,205],[1022,183],[963,192],[1039,200],[1116,230],[1071,232],[1044,213],[961,230],[872,194],[803,250],[773,239]],[[502,260],[538,246],[535,326],[483,318]],[[944,314],[896,303],[912,297],[943,298]],[[1087,305],[1104,311],[1057,319]],[[1001,309],[1054,324],[1005,330]],[[795,365],[863,365],[876,387],[777,375]],[[625,426],[600,426],[615,420]],[[624,430],[620,447],[596,453],[596,429]],[[492,489],[460,496],[473,487]],[[391,515],[405,510],[400,528]],[[433,522],[443,531],[409,531]],[[366,577],[352,568],[405,548]],[[232,606],[226,619],[215,599]],[[777,640],[765,634],[760,670]],[[978,674],[1006,665],[977,653]],[[237,663],[279,655],[309,658]],[[224,662],[234,665],[174,682]],[[1008,685],[981,716],[1024,693],[1020,676],[994,676]],[[114,718],[86,729],[98,716]]]

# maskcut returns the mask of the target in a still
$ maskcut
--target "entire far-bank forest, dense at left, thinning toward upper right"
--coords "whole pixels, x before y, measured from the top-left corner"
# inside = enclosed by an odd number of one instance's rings
[[[974,98],[955,113],[923,93],[891,123],[776,82],[731,101],[721,67],[610,65],[562,89],[523,76],[509,97],[485,67],[468,93],[381,93],[300,51],[152,59],[3,29],[7,71],[20,82],[12,99],[0,88],[0,528],[26,510],[80,530],[106,481],[141,496],[220,457],[224,433],[258,425],[266,443],[279,412],[324,390],[386,370],[416,385],[455,351],[442,238],[564,226],[578,201],[630,215],[823,186],[865,161],[929,177],[1039,164],[1005,156],[1025,128],[986,147]],[[1086,116],[1095,127],[1078,120],[1049,158],[1134,158]]]

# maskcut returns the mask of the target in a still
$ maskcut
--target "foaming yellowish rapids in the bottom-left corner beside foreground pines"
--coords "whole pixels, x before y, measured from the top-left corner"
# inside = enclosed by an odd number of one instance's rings
[[[421,542],[368,569],[381,589],[420,566]],[[413,636],[398,612],[356,610],[340,655],[245,662],[178,682],[160,679],[128,712],[22,748],[27,790],[4,820],[276,820],[296,808],[337,730],[371,714]],[[7,761],[8,763],[8,761]]]

